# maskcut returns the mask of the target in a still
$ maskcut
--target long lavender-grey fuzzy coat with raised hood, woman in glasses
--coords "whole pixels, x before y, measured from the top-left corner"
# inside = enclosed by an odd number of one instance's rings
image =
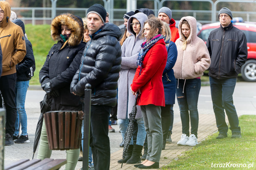
[[[135,15],[132,15],[128,20],[127,31],[133,36],[126,38],[125,42],[121,46],[122,49],[122,62],[121,62],[121,71],[120,77],[118,79],[118,105],[117,105],[117,119],[125,119],[126,114],[129,118],[129,113],[131,113],[132,106],[135,101],[135,95],[131,93],[130,87],[132,84],[133,77],[137,69],[137,58],[141,44],[144,42],[140,36],[143,34],[143,29],[141,28],[138,36],[133,31],[131,26],[133,18],[136,18],[140,25],[144,25],[144,22],[147,20],[147,15],[142,12],[139,12]],[[128,102],[127,102],[128,100]],[[127,106],[128,103],[128,106]],[[137,107],[136,119],[141,118],[141,109],[140,106]]]

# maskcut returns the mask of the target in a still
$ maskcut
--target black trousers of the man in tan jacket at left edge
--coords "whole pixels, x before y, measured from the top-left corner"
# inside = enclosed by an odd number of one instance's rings
[[[9,133],[11,136],[15,131],[15,121],[17,117],[15,104],[16,79],[16,73],[0,77],[0,91],[3,95],[6,109],[5,133]]]

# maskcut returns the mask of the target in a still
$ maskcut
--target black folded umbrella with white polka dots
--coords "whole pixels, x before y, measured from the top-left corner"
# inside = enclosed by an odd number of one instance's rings
[[[134,105],[132,107],[132,111],[131,113],[129,114],[129,125],[126,129],[126,132],[125,132],[125,144],[124,144],[124,150],[123,150],[123,161],[124,161],[124,158],[127,154],[127,151],[128,151],[128,148],[129,148],[129,144],[131,142],[131,137],[132,137],[132,133],[133,133],[133,127],[134,127],[134,120],[135,120],[135,116],[136,116],[136,113],[137,113],[137,101],[138,101],[138,97],[139,97],[139,92],[137,92],[136,94],[136,98],[135,98],[135,102],[134,102]],[[122,165],[121,165],[121,168],[123,167],[123,162],[122,162]]]

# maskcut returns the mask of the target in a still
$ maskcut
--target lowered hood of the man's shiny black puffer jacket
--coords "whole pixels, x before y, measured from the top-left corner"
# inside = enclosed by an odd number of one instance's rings
[[[119,39],[122,35],[122,32],[120,31],[118,26],[108,22],[105,23],[96,33],[91,35],[91,39],[98,39],[106,35],[110,35]]]

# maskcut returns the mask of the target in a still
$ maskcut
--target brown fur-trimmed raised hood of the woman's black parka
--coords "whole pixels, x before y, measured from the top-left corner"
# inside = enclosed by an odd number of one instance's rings
[[[60,39],[62,24],[66,25],[71,30],[68,41],[69,45],[77,46],[83,38],[84,27],[82,21],[70,13],[61,14],[55,17],[51,24],[51,36],[54,41]]]

